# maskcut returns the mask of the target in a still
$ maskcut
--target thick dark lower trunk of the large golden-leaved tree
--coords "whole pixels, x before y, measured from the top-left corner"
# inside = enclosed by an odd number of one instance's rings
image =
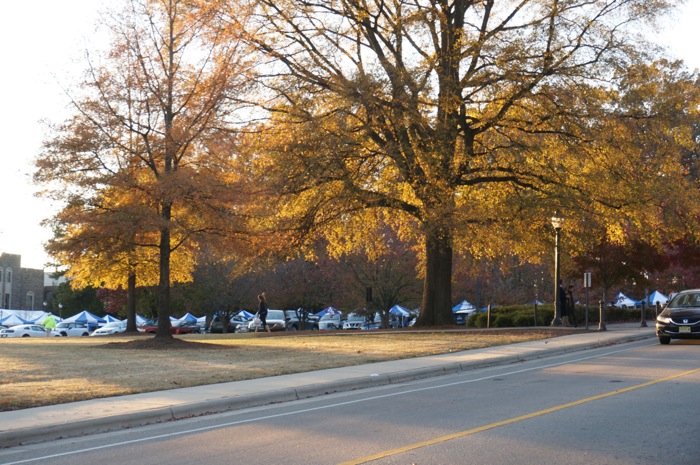
[[[452,233],[443,226],[426,232],[423,303],[417,326],[454,325],[452,316]]]

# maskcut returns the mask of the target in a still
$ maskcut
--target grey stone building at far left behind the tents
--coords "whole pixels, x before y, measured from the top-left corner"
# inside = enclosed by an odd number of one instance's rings
[[[0,253],[0,308],[42,310],[44,270],[22,268],[22,256]]]

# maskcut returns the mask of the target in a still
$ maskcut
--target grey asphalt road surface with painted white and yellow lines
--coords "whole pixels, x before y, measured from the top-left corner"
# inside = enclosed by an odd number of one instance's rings
[[[0,463],[697,465],[699,355],[646,340],[4,449]]]

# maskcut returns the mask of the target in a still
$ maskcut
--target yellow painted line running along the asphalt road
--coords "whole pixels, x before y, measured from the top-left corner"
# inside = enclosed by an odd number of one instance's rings
[[[466,431],[461,431],[459,433],[448,434],[447,436],[441,436],[439,438],[429,439],[427,441],[417,442],[415,444],[409,444],[409,445],[404,446],[404,447],[399,447],[398,449],[391,449],[391,450],[387,450],[384,452],[379,452],[377,454],[369,455],[367,457],[362,457],[359,459],[350,460],[348,462],[343,462],[339,465],[359,465],[362,463],[371,462],[373,460],[383,459],[386,457],[390,457],[392,455],[401,454],[404,452],[408,452],[410,450],[420,449],[420,448],[426,447],[426,446],[432,446],[434,444],[439,444],[441,442],[451,441],[452,439],[463,438],[465,436],[470,436],[472,434],[481,433],[483,431],[488,431],[490,429],[499,428],[501,426],[512,425],[513,423],[518,423],[520,421],[540,417],[543,415],[547,415],[549,413],[554,413],[554,412],[558,412],[560,410],[564,410],[567,408],[576,407],[578,405],[586,404],[588,402],[593,402],[596,400],[605,399],[607,397],[616,396],[618,394],[624,394],[626,392],[645,388],[647,386],[653,386],[654,384],[663,383],[665,381],[670,381],[672,379],[681,378],[683,376],[692,375],[693,373],[698,373],[698,372],[700,372],[700,368],[696,368],[694,370],[689,370],[689,371],[684,371],[682,373],[677,373],[675,375],[667,376],[665,378],[660,378],[660,379],[657,379],[654,381],[648,381],[646,383],[637,384],[635,386],[630,386],[630,387],[627,387],[624,389],[618,389],[617,391],[612,391],[612,392],[600,394],[600,395],[593,396],[593,397],[587,397],[585,399],[580,399],[580,400],[577,400],[574,402],[569,402],[568,404],[558,405],[556,407],[551,407],[548,409],[540,410],[538,412],[528,413],[527,415],[522,415],[520,417],[515,417],[515,418],[508,419],[508,420],[503,420],[503,421],[497,421],[495,423],[491,423],[491,424],[484,425],[484,426],[479,426],[478,428],[472,428],[472,429],[469,429]]]

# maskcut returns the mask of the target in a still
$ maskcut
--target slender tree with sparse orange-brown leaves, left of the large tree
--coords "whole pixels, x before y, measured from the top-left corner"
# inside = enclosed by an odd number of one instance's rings
[[[243,230],[232,128],[247,54],[215,6],[130,0],[106,15],[111,46],[87,55],[73,114],[37,161],[64,204],[49,252],[80,283],[157,284],[156,338],[172,337],[171,279],[191,279],[197,241]]]

